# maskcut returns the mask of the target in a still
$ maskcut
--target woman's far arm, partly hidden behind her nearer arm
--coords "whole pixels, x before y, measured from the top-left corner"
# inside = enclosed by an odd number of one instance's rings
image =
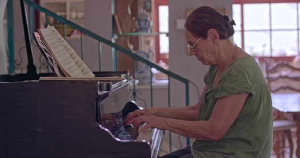
[[[143,110],[136,110],[127,115],[126,119],[135,118],[141,115],[154,115],[164,118],[173,118],[180,120],[197,120],[202,100],[205,95],[207,85],[203,88],[199,101],[195,105],[184,107],[151,107]]]

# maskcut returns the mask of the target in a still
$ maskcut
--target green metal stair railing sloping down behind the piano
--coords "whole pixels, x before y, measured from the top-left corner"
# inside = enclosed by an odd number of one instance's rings
[[[30,0],[25,0],[25,3],[28,5],[29,9],[30,8],[34,8],[36,10],[38,10],[39,12],[42,12],[44,13],[46,16],[46,25],[48,24],[47,22],[47,17],[50,16],[50,17],[53,17],[54,19],[60,21],[63,23],[63,35],[65,36],[65,26],[66,25],[69,25],[70,27],[78,30],[81,32],[81,35],[80,35],[80,43],[81,43],[81,58],[84,57],[84,54],[83,54],[83,35],[85,36],[89,36],[95,40],[98,40],[99,42],[99,49],[98,49],[98,60],[99,60],[99,71],[101,71],[101,47],[102,47],[102,43],[106,44],[106,45],[109,45],[110,47],[112,47],[112,49],[115,50],[115,53],[112,54],[113,56],[113,63],[115,64],[114,67],[115,69],[114,70],[117,70],[117,53],[118,52],[121,52],[121,53],[124,53],[128,56],[130,56],[132,58],[132,63],[133,63],[133,78],[135,79],[135,61],[139,61],[139,62],[142,62],[148,66],[150,66],[150,71],[151,71],[151,68],[155,68],[157,69],[158,71],[166,74],[168,76],[168,106],[170,106],[170,78],[173,78],[173,79],[176,79],[180,82],[182,82],[183,84],[185,84],[185,102],[186,102],[186,106],[189,105],[189,80],[188,79],[185,79],[171,71],[168,71],[150,61],[148,61],[147,59],[144,59],[142,57],[140,57],[139,55],[123,48],[123,47],[120,47],[119,45],[116,45],[115,43],[111,42],[110,40],[106,40],[105,38],[61,17],[61,16],[58,16],[56,15],[55,13],[47,10],[46,8],[43,8],[41,6],[39,6],[38,4],[36,3],[33,3],[32,1]],[[11,53],[10,53],[11,54]],[[11,63],[10,63],[11,64]],[[150,78],[150,83],[151,83],[151,86],[150,86],[150,90],[151,90],[151,106],[153,106],[153,86],[152,86],[152,73],[149,72],[151,74],[151,78]],[[133,97],[134,97],[134,100],[136,99],[136,87],[135,87],[135,84],[133,84]],[[170,138],[170,141],[171,141],[171,135],[169,136]],[[187,138],[187,145],[190,144],[190,140],[189,138]],[[170,150],[171,150],[171,142],[170,142]]]

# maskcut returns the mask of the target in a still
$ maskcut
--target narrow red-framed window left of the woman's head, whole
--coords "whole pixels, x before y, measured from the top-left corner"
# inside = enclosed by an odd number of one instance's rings
[[[154,26],[153,32],[169,32],[169,7],[167,0],[154,0]],[[156,63],[163,61],[168,64],[169,37],[166,34],[155,36]]]

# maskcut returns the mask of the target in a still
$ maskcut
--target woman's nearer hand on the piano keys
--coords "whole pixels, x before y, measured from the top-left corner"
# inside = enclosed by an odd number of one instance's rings
[[[139,129],[139,132],[144,132],[148,128],[166,129],[166,118],[156,117],[154,115],[138,116],[130,120],[129,123],[133,124],[134,128],[139,128],[141,124],[145,123],[145,126]]]

